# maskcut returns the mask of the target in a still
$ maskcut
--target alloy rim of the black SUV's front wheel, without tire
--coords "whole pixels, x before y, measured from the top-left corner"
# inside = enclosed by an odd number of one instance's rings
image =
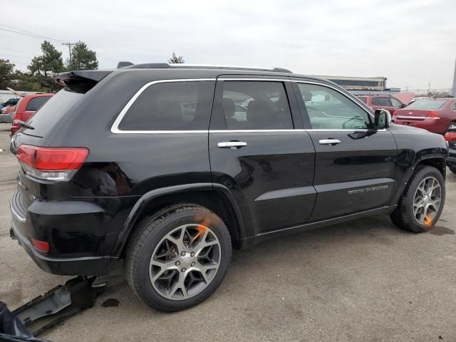
[[[429,225],[437,215],[442,200],[442,188],[435,177],[420,182],[413,197],[413,215],[419,224]]]

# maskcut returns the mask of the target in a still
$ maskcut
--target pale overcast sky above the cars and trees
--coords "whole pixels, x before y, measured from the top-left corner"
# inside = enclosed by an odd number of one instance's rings
[[[85,41],[100,68],[118,61],[289,68],[331,76],[385,76],[390,87],[450,88],[455,0],[1,1],[0,58],[25,69],[47,36]],[[10,26],[10,27],[8,27]]]

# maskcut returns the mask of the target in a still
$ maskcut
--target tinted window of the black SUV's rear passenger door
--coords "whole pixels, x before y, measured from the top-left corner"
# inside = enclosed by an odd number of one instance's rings
[[[222,106],[229,130],[293,128],[281,82],[224,81]]]

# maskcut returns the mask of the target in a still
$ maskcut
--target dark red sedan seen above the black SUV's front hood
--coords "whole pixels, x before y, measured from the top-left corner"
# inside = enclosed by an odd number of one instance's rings
[[[456,128],[456,98],[417,100],[406,108],[396,110],[393,121],[445,134],[450,128]]]

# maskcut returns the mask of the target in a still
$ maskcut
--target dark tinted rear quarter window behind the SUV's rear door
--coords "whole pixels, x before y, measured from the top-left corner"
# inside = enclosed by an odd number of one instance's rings
[[[128,109],[120,130],[207,130],[214,82],[153,84]]]

